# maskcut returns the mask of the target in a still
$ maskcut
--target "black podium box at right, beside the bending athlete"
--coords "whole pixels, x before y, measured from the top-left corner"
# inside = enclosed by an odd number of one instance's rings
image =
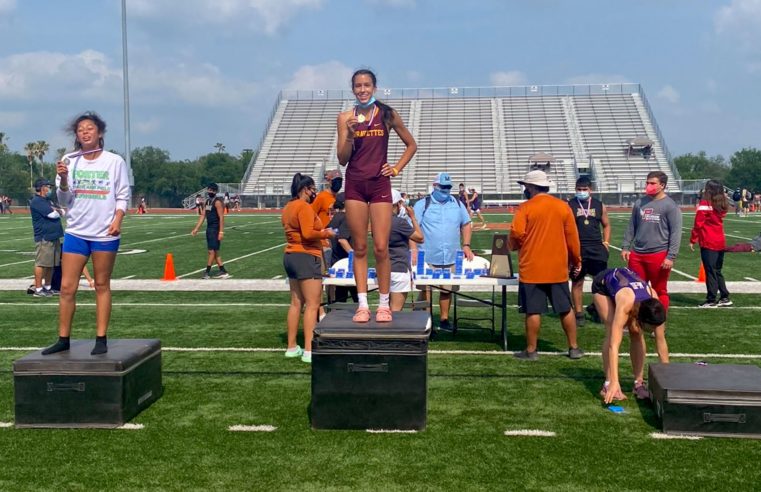
[[[761,369],[651,364],[650,399],[667,434],[761,438]]]

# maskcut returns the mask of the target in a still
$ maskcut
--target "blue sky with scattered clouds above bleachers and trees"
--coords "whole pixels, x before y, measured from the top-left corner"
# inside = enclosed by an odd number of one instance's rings
[[[283,88],[637,82],[673,154],[761,147],[761,0],[127,0],[132,146],[255,148]],[[0,131],[124,149],[120,0],[0,0]]]

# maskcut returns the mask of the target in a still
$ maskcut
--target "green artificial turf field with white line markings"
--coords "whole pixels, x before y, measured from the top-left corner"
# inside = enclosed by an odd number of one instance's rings
[[[283,275],[278,217],[228,220],[228,270],[236,278]],[[614,244],[627,220],[613,216]],[[202,268],[204,239],[187,235],[194,221],[129,217],[122,249],[147,251],[121,255],[114,277],[160,278],[167,252],[179,275]],[[688,229],[691,221],[685,214]],[[730,242],[742,241],[758,234],[761,217],[729,217],[725,225],[728,235],[738,236]],[[476,232],[476,249],[489,248],[490,235]],[[21,254],[33,250],[30,236],[28,216],[0,217],[0,278],[31,275],[31,262],[9,265],[31,259]],[[252,254],[268,248],[274,249]],[[761,279],[759,261],[753,254],[728,255],[725,275]],[[683,247],[676,268],[694,276],[698,254]],[[688,280],[676,272],[672,278]],[[0,490],[753,490],[761,480],[758,441],[653,439],[659,429],[649,405],[630,399],[623,415],[601,406],[599,356],[521,362],[499,352],[487,330],[442,334],[432,342],[424,432],[312,431],[309,367],[281,353],[288,294],[214,292],[213,283],[224,281],[209,282],[203,292],[115,292],[109,335],[162,340],[164,396],[134,420],[141,430],[0,428]],[[674,294],[671,351],[695,355],[673,360],[758,365],[759,291],[733,295],[735,307],[715,310],[695,308],[701,295]],[[92,292],[80,292],[76,337],[93,335],[93,303]],[[13,348],[55,339],[56,304],[0,292],[0,422],[13,421],[11,363],[26,353]],[[510,347],[523,348],[515,310],[508,322]],[[579,330],[580,346],[590,352],[599,352],[602,337],[600,325],[587,322]],[[557,318],[545,316],[540,339],[541,351],[565,349]],[[187,350],[204,347],[209,350]],[[225,350],[231,348],[249,351]],[[627,359],[621,368],[630,390]],[[228,430],[237,424],[277,429]],[[518,429],[556,436],[504,435]]]

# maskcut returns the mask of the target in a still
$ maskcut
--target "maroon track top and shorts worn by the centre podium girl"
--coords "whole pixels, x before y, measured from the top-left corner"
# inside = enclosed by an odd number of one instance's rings
[[[381,174],[388,161],[388,128],[376,105],[368,121],[357,123],[354,147],[346,168],[346,200],[391,203],[391,178]]]

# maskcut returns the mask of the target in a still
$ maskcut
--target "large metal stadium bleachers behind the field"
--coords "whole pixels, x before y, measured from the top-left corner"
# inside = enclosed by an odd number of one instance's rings
[[[516,180],[530,156],[553,157],[553,192],[568,193],[579,174],[590,174],[601,193],[631,193],[649,171],[680,178],[639,84],[526,86],[449,89],[379,89],[418,143],[399,187],[425,193],[431,178],[447,171],[486,197],[520,193]],[[259,152],[249,164],[244,195],[287,195],[296,172],[320,181],[338,167],[337,114],[352,107],[349,91],[283,91],[273,109]],[[628,142],[652,141],[647,152]],[[404,145],[392,134],[389,161]]]

